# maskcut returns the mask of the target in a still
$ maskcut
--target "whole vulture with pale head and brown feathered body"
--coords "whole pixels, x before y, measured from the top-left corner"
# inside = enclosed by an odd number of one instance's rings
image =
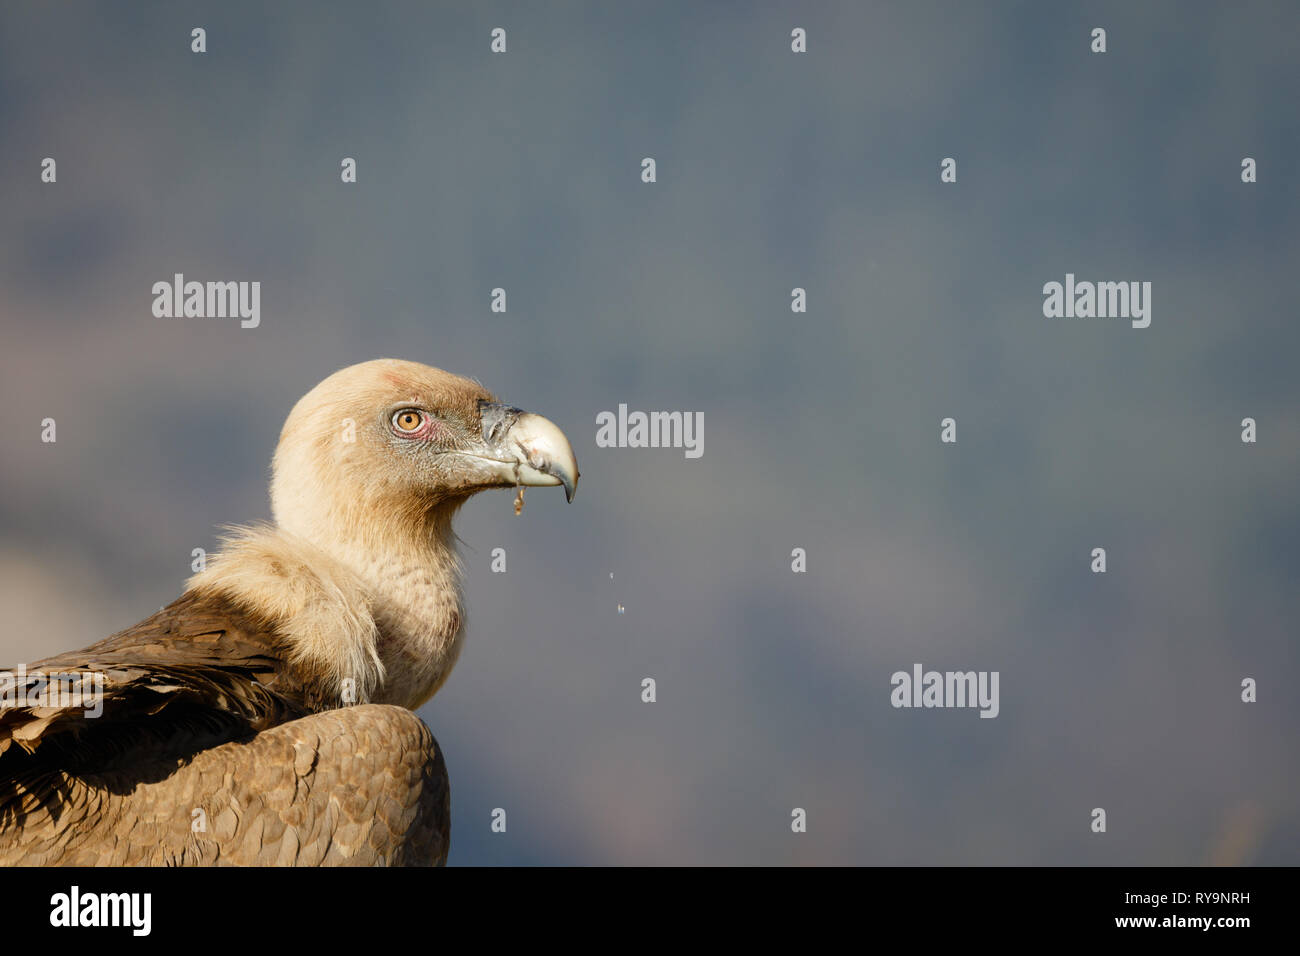
[[[577,479],[554,423],[468,378],[325,378],[281,432],[273,523],[134,627],[0,671],[0,865],[446,862],[447,770],[412,711],[460,652],[452,518]]]

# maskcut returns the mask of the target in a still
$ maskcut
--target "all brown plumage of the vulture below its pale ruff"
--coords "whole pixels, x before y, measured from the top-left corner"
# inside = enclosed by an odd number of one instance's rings
[[[393,706],[337,708],[276,627],[187,592],[27,667],[100,675],[101,713],[0,709],[0,864],[441,864],[446,766]],[[199,817],[208,829],[195,829]]]

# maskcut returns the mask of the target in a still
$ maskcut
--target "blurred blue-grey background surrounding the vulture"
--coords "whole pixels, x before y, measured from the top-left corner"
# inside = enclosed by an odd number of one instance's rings
[[[0,663],[173,600],[292,403],[407,358],[582,470],[460,514],[451,864],[1300,862],[1300,16],[1044,7],[5,4]],[[1067,272],[1150,328],[1045,319]],[[1000,715],[893,709],[915,662]]]

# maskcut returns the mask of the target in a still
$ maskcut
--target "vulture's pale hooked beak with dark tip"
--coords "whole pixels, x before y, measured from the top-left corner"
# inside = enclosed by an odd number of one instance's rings
[[[478,402],[481,458],[511,485],[564,485],[564,498],[577,490],[577,458],[564,432],[541,415],[499,402]]]

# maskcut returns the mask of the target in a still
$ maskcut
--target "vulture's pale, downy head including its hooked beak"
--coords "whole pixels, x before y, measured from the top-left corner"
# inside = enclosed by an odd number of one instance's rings
[[[308,540],[421,528],[489,488],[562,485],[577,460],[554,423],[416,362],[351,365],[308,392],[276,450],[277,524]]]

